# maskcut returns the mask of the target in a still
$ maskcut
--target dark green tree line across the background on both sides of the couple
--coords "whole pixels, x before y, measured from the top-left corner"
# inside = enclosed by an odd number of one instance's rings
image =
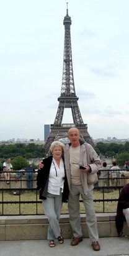
[[[94,148],[98,155],[107,157],[114,157],[117,160],[117,164],[120,167],[124,166],[125,161],[129,160],[129,142],[125,144],[117,144],[117,143],[104,143],[98,142],[96,147]],[[15,163],[15,167],[17,167],[16,162],[20,160],[21,165],[24,165],[23,160],[25,160],[25,165],[27,164],[27,159],[30,158],[43,158],[45,157],[45,150],[43,150],[43,145],[38,145],[35,143],[32,144],[1,144],[0,145],[0,159],[2,162],[11,158],[11,160]],[[19,159],[20,157],[20,159]],[[19,168],[20,168],[19,166]],[[24,166],[21,166],[21,168]],[[19,169],[14,169],[19,170]]]

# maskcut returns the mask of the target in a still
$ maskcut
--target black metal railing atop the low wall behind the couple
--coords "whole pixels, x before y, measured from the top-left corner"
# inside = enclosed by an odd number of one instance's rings
[[[115,170],[113,170],[115,171]],[[112,184],[112,178],[107,178],[109,186],[101,186],[99,182],[94,185],[94,206],[96,213],[114,213],[117,209],[118,196],[123,186],[129,182],[129,171],[125,169],[116,170],[118,176],[117,186]],[[16,179],[17,171],[11,173],[10,183],[7,184],[4,175],[0,178],[0,215],[1,216],[21,216],[21,215],[42,215],[42,201],[39,199],[37,191],[37,174],[33,178],[33,188],[27,188],[26,175]],[[82,200],[80,198],[80,211],[85,213]],[[63,203],[61,214],[68,214],[68,205]]]

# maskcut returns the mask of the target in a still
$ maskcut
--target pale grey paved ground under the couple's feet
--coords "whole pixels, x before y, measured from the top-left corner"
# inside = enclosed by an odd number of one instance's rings
[[[64,244],[48,246],[48,240],[0,241],[1,256],[129,256],[129,237],[102,237],[99,239],[101,250],[92,250],[89,239],[83,239],[76,246],[70,245],[71,239]]]

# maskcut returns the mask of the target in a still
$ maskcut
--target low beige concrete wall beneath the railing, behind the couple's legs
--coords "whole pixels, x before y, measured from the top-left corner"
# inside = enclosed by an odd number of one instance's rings
[[[115,213],[96,214],[99,237],[115,237]],[[84,237],[89,237],[86,226],[85,214],[81,214],[81,226]],[[60,227],[63,230],[64,239],[72,237],[69,224],[69,215],[60,217]],[[47,239],[47,216],[1,216],[0,240],[41,240]],[[123,235],[129,235],[127,222],[124,222]]]

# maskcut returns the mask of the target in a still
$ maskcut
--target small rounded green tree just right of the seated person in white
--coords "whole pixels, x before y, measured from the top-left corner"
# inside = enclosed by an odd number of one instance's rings
[[[27,159],[25,157],[22,157],[21,155],[15,157],[11,163],[13,170],[21,170],[22,168],[26,168],[29,164],[27,162]]]

